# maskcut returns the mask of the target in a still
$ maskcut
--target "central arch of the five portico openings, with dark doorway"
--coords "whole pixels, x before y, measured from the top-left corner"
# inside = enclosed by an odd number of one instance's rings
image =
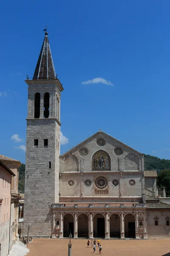
[[[94,215],[93,233],[96,238],[105,237],[105,217],[101,213]]]

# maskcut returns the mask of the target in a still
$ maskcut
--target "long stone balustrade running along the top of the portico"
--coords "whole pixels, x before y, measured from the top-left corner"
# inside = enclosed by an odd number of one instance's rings
[[[73,207],[146,207],[146,204],[140,204],[140,203],[66,203],[66,204],[52,204],[51,208],[56,208],[56,207],[64,207],[64,208],[73,208]]]

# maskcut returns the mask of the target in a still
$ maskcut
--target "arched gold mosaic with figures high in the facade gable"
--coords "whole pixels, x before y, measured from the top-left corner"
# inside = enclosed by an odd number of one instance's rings
[[[93,170],[110,170],[111,160],[105,151],[97,151],[92,158]]]

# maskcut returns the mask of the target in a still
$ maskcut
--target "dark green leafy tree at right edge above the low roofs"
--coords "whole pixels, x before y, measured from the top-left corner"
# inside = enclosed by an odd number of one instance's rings
[[[157,184],[161,189],[165,187],[167,195],[170,195],[170,170],[162,170],[158,173]]]

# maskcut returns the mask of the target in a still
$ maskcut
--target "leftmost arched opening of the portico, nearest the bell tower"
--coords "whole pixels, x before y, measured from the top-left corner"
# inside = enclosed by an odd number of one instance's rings
[[[69,237],[70,231],[74,237],[74,218],[71,213],[66,213],[63,219],[63,237]]]

